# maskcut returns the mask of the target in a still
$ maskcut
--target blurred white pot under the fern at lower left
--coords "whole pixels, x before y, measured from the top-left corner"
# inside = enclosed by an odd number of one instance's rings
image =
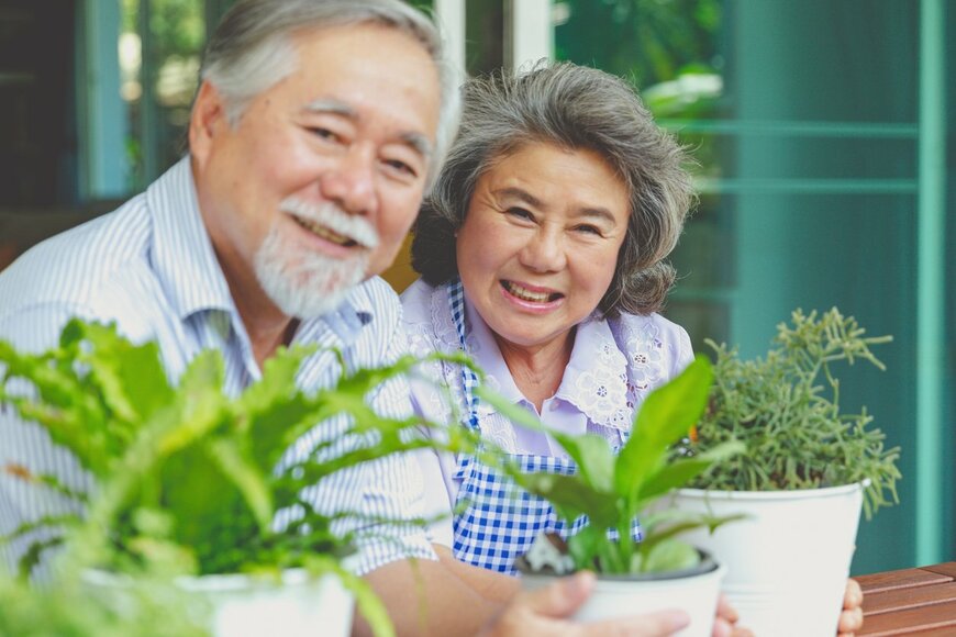
[[[87,571],[84,580],[111,594],[126,585],[103,571]],[[176,584],[204,599],[213,637],[346,637],[352,629],[354,599],[334,574],[316,579],[291,569],[281,582],[227,574],[179,578]]]

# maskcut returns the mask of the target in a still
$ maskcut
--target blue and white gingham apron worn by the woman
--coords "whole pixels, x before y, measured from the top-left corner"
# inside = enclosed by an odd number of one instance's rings
[[[459,346],[465,347],[465,293],[462,282],[448,284],[452,320],[458,333]],[[464,396],[468,405],[468,425],[481,433],[478,421],[478,396],[475,388],[478,377],[462,367]],[[531,454],[509,456],[522,472],[548,472],[570,476],[577,466],[570,459]],[[531,549],[541,533],[557,533],[567,538],[580,530],[588,518],[576,519],[570,529],[557,518],[552,505],[544,499],[518,488],[514,482],[470,455],[457,458],[455,480],[459,481],[455,516],[453,518],[455,557],[464,562],[493,571],[514,574],[514,559]],[[609,529],[616,539],[616,530]],[[632,535],[641,540],[641,526],[635,521]]]

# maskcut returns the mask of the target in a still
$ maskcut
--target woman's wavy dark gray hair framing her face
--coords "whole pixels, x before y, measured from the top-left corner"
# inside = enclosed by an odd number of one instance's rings
[[[634,88],[593,68],[540,64],[525,75],[470,79],[463,100],[458,138],[415,222],[412,266],[424,279],[436,286],[457,276],[455,233],[481,175],[530,144],[553,144],[596,152],[630,193],[627,234],[599,310],[604,316],[658,311],[675,278],[664,259],[694,194],[689,157]]]

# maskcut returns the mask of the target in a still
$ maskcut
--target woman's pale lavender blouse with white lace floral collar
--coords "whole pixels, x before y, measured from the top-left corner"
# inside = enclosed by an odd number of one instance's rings
[[[401,301],[412,354],[426,356],[433,351],[458,350],[458,335],[444,286],[434,288],[418,280],[401,295]],[[514,384],[490,328],[467,294],[465,308],[468,355],[485,370],[486,383],[537,414],[551,428],[569,434],[598,434],[615,446],[624,442],[635,406],[693,358],[687,332],[659,314],[629,314],[611,320],[591,316],[578,325],[560,385],[537,413]],[[429,382],[412,382],[415,410],[435,423],[467,426],[468,409],[460,369],[434,362],[422,371]],[[448,390],[452,404],[446,400]],[[482,435],[505,451],[566,457],[552,436],[515,427],[480,402],[478,417]],[[419,461],[424,473],[429,514],[451,514],[458,493],[458,482],[454,479],[456,459],[449,454],[423,451],[419,454]],[[434,541],[452,546],[451,518],[433,525],[432,535]]]

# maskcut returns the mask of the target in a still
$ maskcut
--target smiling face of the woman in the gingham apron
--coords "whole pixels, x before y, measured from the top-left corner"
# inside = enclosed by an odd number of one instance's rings
[[[627,188],[594,152],[531,144],[482,175],[458,231],[465,292],[519,347],[563,345],[607,292]]]

